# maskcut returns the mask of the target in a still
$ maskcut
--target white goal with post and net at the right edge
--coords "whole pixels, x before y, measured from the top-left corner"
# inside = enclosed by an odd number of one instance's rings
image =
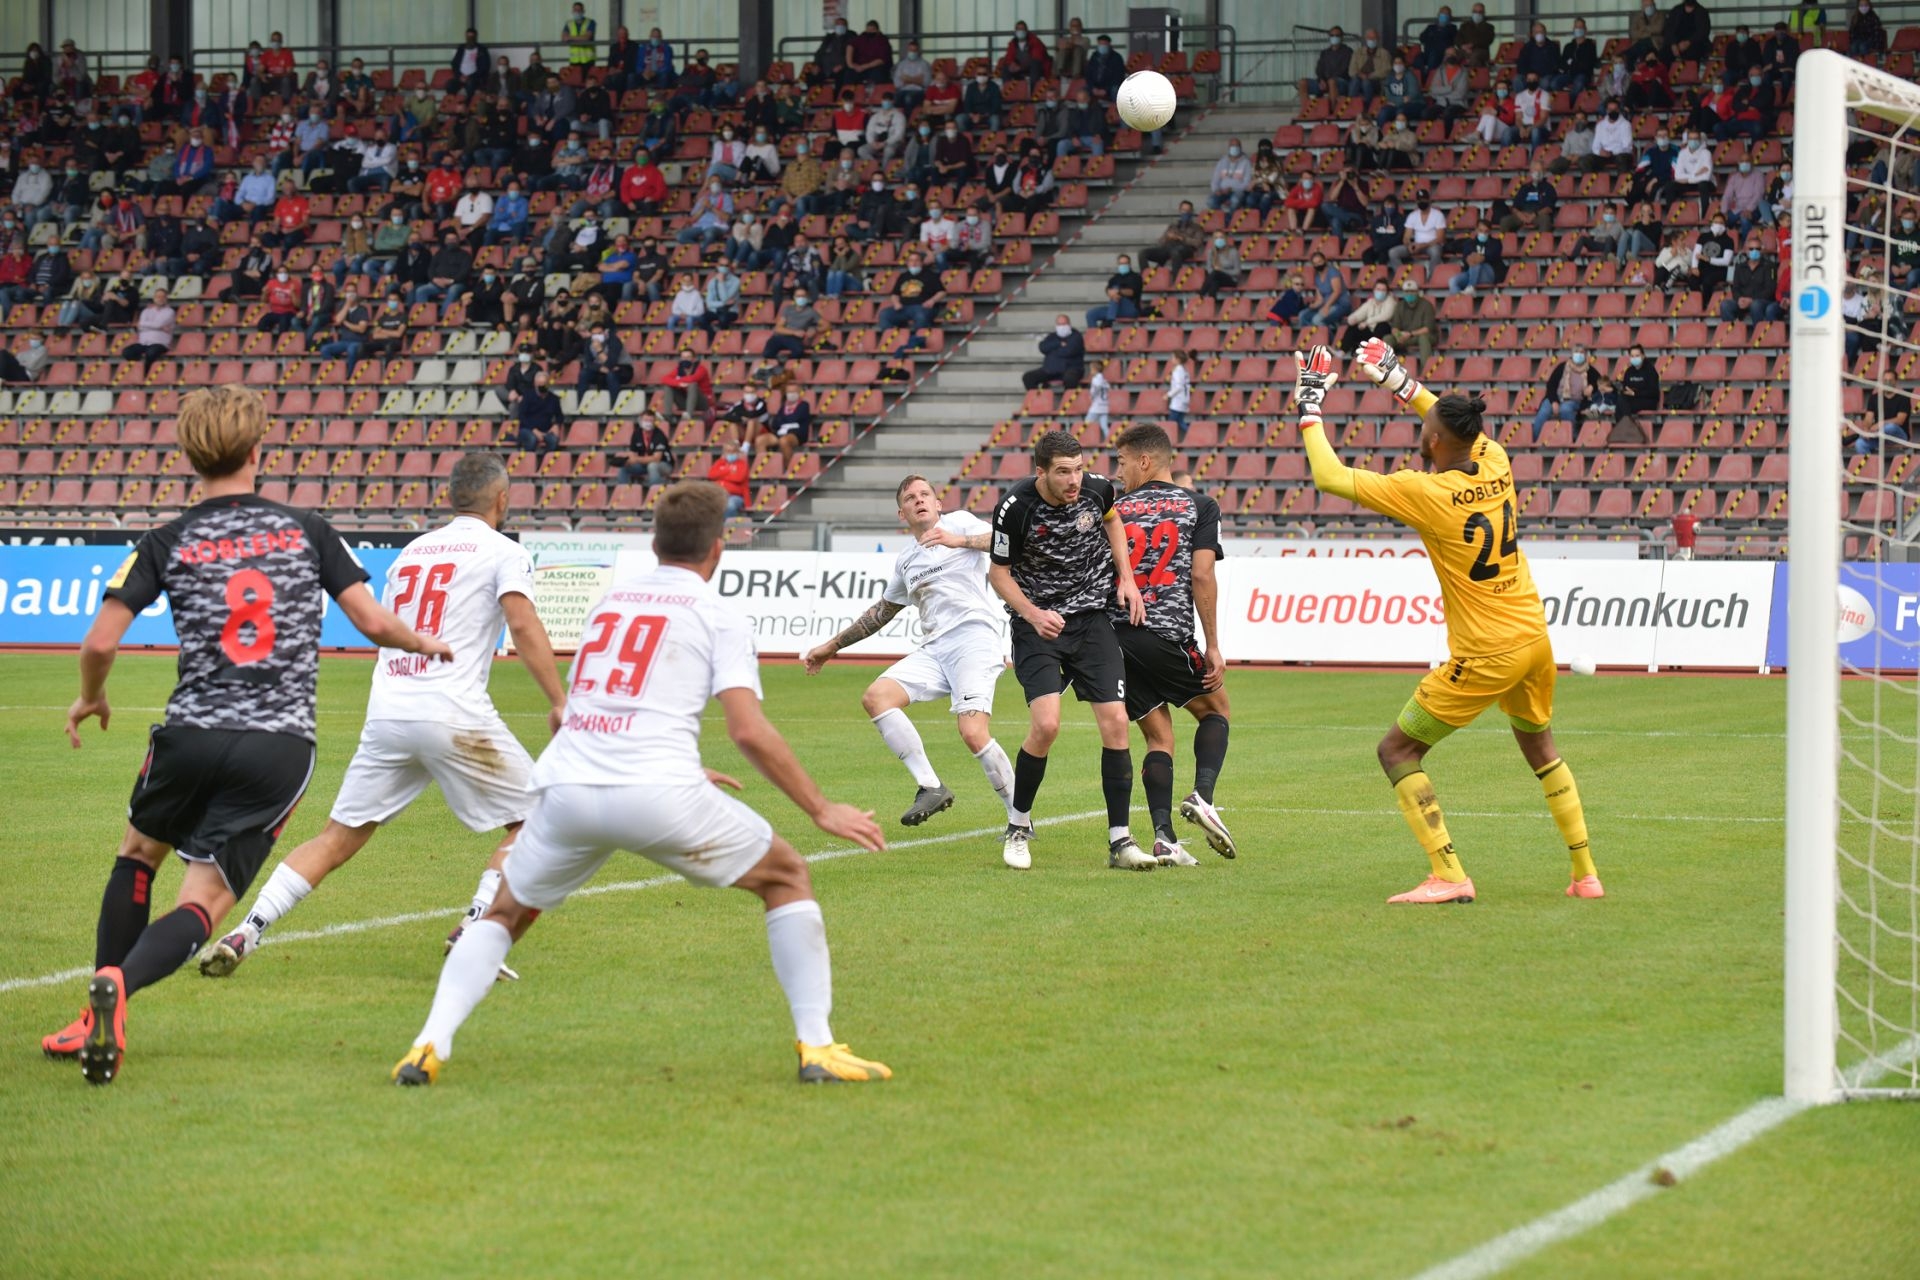
[[[1793,102],[1786,1094],[1920,1098],[1920,84]]]

